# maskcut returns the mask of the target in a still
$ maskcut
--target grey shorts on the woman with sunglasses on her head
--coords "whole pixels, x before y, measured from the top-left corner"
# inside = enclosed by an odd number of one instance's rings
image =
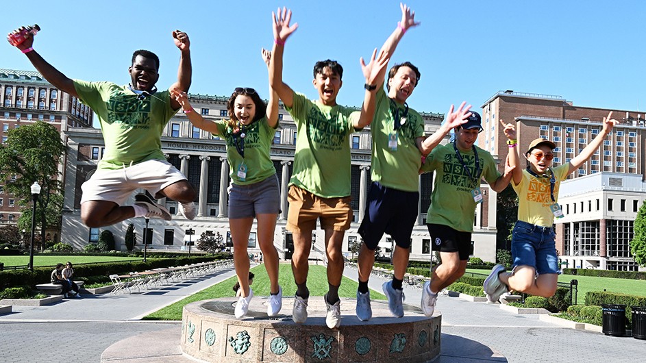
[[[229,218],[253,218],[256,214],[278,214],[280,191],[274,174],[262,182],[229,187]]]

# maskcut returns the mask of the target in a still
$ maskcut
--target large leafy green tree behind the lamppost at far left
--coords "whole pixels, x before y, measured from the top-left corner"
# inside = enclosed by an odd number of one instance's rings
[[[34,228],[40,227],[40,240],[45,240],[47,225],[60,223],[63,185],[58,165],[66,150],[65,143],[58,129],[44,121],[11,129],[6,135],[7,141],[0,145],[0,181],[5,191],[25,206],[23,214],[32,209],[30,187],[34,182],[40,184]]]

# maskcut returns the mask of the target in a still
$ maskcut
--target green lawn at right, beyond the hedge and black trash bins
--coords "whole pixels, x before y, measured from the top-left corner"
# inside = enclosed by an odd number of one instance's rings
[[[487,274],[489,270],[475,270],[467,268],[467,271],[473,273]],[[578,284],[577,303],[585,303],[586,292],[588,291],[606,291],[618,292],[629,295],[646,295],[646,280],[634,279],[615,279],[612,277],[594,277],[594,276],[575,276],[575,275],[558,275],[559,282],[569,283],[576,279]]]

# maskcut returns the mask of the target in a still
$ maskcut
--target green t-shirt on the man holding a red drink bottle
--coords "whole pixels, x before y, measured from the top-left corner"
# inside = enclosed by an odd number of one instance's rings
[[[99,169],[117,169],[146,160],[166,160],[162,132],[177,112],[167,90],[138,99],[127,86],[74,79],[79,99],[99,117],[105,153]]]

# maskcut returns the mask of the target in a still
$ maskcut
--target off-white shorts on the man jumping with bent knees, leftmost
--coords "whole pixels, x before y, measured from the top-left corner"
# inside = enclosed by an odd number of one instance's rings
[[[81,203],[112,201],[123,205],[138,188],[158,198],[160,190],[182,180],[186,180],[186,177],[166,160],[146,160],[115,170],[99,169],[81,186]]]

